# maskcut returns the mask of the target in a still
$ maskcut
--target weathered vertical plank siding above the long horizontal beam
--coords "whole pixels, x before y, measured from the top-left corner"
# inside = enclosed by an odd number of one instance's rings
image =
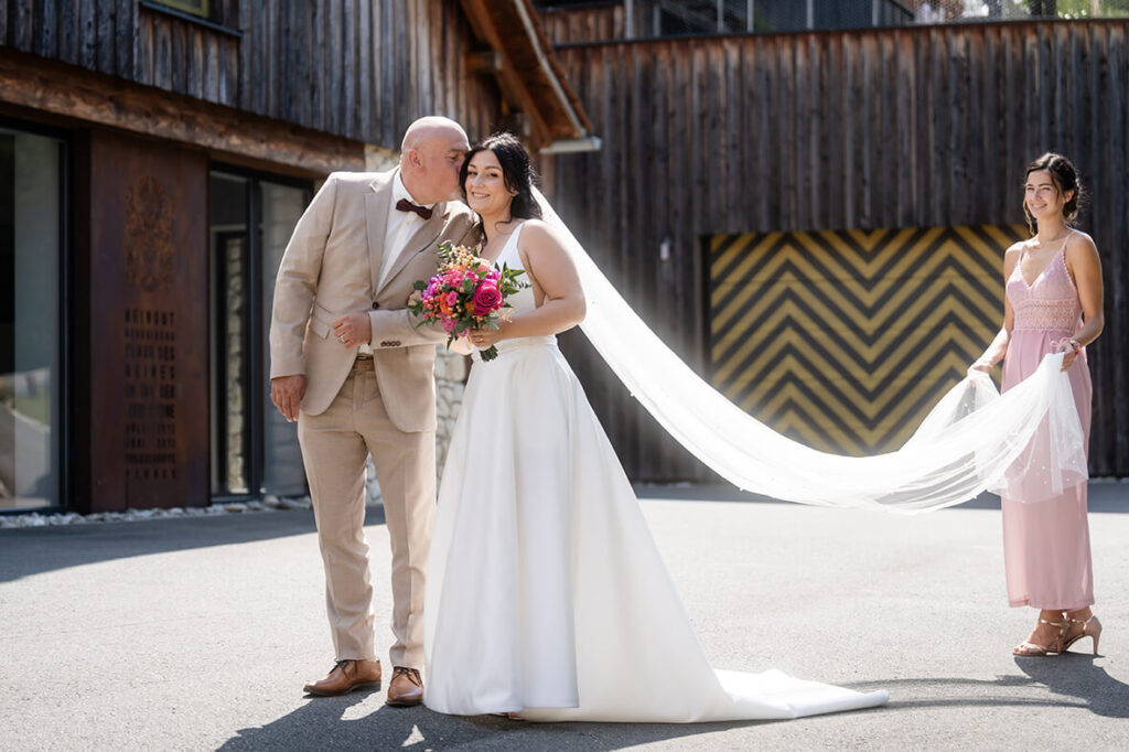
[[[500,111],[452,0],[213,2],[242,36],[137,0],[0,0],[0,46],[396,149],[420,115],[478,138]]]

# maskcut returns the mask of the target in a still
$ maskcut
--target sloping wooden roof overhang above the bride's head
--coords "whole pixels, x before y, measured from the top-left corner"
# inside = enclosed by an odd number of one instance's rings
[[[530,0],[460,0],[475,36],[490,46],[471,53],[472,69],[491,72],[506,102],[530,119],[542,154],[599,148]]]

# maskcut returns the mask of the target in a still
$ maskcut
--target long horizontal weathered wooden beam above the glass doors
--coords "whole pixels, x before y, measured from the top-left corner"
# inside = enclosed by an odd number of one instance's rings
[[[132,131],[291,175],[364,169],[365,145],[164,89],[0,49],[0,103]]]

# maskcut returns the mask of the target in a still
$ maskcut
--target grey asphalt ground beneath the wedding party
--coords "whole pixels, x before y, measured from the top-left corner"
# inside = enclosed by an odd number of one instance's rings
[[[0,531],[0,750],[1129,749],[1129,484],[1091,488],[1101,655],[1086,640],[1026,659],[1010,647],[1034,612],[1006,605],[990,500],[902,517],[723,488],[642,496],[717,667],[885,688],[890,705],[536,725],[390,708],[383,692],[312,699],[303,682],[333,657],[322,565],[313,515],[278,511]],[[382,515],[367,534],[390,644]]]

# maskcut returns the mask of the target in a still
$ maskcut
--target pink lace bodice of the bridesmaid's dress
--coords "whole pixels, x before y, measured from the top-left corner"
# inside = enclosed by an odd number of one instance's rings
[[[1066,268],[1065,251],[1066,241],[1031,285],[1023,279],[1019,269],[1023,255],[1019,256],[1007,280],[1007,299],[1015,312],[1013,331],[1074,333],[1077,330],[1082,316],[1082,301]],[[1026,253],[1026,248],[1022,253]]]

